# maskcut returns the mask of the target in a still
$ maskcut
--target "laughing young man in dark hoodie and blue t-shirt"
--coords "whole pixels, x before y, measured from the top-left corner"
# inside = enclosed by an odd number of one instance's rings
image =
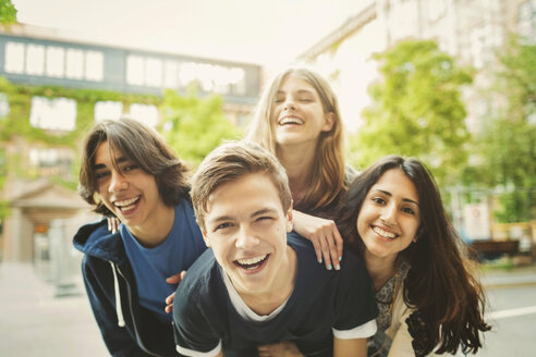
[[[176,356],[166,297],[170,278],[206,249],[190,202],[187,170],[163,138],[134,120],[103,121],[83,146],[80,193],[98,213],[74,237],[87,295],[113,356]]]

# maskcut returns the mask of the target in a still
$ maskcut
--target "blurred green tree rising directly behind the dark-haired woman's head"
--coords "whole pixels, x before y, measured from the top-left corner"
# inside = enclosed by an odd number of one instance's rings
[[[370,86],[373,104],[363,112],[364,125],[351,138],[354,164],[366,167],[382,156],[418,157],[441,184],[450,184],[466,162],[465,107],[461,86],[470,71],[435,41],[406,40],[383,53],[381,81]]]

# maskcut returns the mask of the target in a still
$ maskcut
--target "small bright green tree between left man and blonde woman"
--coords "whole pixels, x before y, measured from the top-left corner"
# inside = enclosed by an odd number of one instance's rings
[[[193,90],[186,96],[165,93],[162,132],[181,159],[197,165],[222,140],[241,137],[223,115],[222,104],[220,96],[199,98]]]

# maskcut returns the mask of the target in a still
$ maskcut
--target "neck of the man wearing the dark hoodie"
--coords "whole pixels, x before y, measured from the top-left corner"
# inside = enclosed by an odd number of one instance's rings
[[[168,237],[175,218],[174,207],[162,204],[157,209],[158,212],[151,214],[153,219],[143,226],[129,227],[132,235],[136,237],[141,245],[146,248],[154,248],[160,245]]]

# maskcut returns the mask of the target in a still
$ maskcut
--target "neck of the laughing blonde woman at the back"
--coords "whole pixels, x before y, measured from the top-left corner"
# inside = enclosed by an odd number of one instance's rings
[[[278,145],[276,149],[279,162],[289,176],[289,186],[295,204],[300,202],[309,186],[315,153],[316,147],[310,147],[310,145]]]

